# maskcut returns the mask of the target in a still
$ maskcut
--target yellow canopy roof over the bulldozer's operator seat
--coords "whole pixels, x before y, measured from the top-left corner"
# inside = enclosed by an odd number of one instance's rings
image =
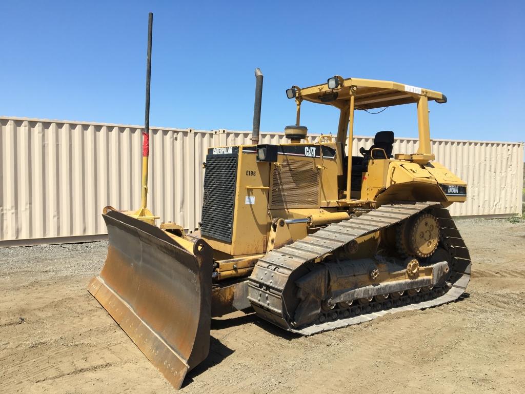
[[[438,91],[399,84],[392,81],[374,79],[347,78],[342,79],[342,86],[330,89],[328,84],[321,84],[298,90],[297,97],[303,100],[344,108],[350,102],[350,89],[355,88],[355,109],[372,109],[386,106],[414,103],[419,96],[428,100],[446,102],[446,96]]]

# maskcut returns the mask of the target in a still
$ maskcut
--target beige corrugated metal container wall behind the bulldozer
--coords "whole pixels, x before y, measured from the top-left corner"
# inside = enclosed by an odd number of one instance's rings
[[[140,203],[141,127],[0,117],[0,246],[100,239],[102,208]],[[152,128],[148,206],[161,221],[195,229],[201,215],[202,163],[213,146],[248,144],[249,132]],[[310,136],[310,140],[317,136]],[[260,143],[282,143],[262,133]],[[369,147],[355,137],[352,154]],[[397,138],[394,152],[417,140]],[[434,140],[436,160],[468,183],[454,216],[521,213],[523,143]]]

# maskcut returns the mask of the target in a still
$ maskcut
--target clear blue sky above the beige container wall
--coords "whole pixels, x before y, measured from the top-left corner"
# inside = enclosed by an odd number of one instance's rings
[[[444,92],[434,138],[523,141],[525,2],[26,2],[0,5],[0,114],[143,124],[153,12],[153,126],[262,131],[295,122],[291,85],[335,74]],[[310,132],[337,112],[305,103]],[[355,134],[417,136],[415,105],[359,111]]]

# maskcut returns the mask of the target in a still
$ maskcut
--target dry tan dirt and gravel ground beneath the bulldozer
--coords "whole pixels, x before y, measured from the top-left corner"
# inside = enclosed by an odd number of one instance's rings
[[[242,313],[214,319],[182,393],[522,393],[525,221],[464,220],[458,302],[309,338]],[[174,393],[86,291],[106,242],[0,249],[0,392]]]

